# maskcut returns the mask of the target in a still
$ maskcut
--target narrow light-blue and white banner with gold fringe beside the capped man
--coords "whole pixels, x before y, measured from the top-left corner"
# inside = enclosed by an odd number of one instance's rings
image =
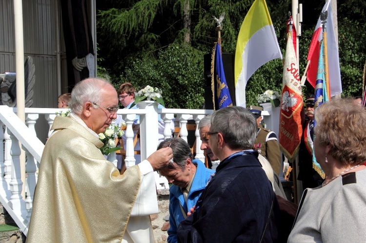
[[[314,104],[314,110],[323,104],[324,102],[328,102],[328,95],[326,92],[326,85],[325,82],[325,73],[324,73],[324,44],[323,41],[321,41],[320,44],[320,54],[319,54],[319,62],[318,62],[318,74],[316,77],[316,85],[315,85],[315,104]],[[314,116],[314,128],[316,126],[316,117]],[[313,137],[313,141],[315,140],[315,134]],[[315,154],[313,150],[313,168],[316,172],[324,179],[325,174],[323,169],[320,167],[319,163],[315,159]]]

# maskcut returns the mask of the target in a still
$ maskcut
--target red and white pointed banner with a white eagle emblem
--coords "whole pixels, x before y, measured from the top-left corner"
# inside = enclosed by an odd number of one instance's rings
[[[281,151],[292,162],[299,151],[301,135],[303,134],[301,110],[304,102],[299,67],[290,34],[287,37],[282,84],[279,141]]]

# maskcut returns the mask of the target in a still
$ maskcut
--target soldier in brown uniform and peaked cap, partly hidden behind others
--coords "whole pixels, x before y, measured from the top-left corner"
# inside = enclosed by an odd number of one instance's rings
[[[276,133],[269,129],[264,128],[261,125],[262,121],[262,107],[259,106],[248,106],[249,110],[254,118],[257,120],[258,131],[257,139],[255,140],[254,149],[262,153],[271,164],[276,174],[280,175],[282,158],[280,152],[280,145],[277,140]]]

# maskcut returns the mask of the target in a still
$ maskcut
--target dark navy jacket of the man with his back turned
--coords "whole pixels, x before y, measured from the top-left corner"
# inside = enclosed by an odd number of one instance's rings
[[[220,163],[193,216],[178,226],[182,243],[277,241],[279,206],[257,156],[244,151]]]

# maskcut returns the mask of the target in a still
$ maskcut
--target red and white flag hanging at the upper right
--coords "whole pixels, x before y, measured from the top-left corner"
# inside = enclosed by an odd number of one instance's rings
[[[330,93],[332,96],[342,93],[341,70],[339,66],[338,43],[335,37],[333,16],[330,0],[325,3],[322,12],[327,11],[326,33],[327,33],[327,53],[328,53],[328,72]],[[315,88],[316,76],[318,73],[320,41],[323,39],[322,22],[319,17],[315,27],[313,37],[311,38],[307,60],[310,60],[306,72],[307,81]],[[327,80],[328,81],[328,80]]]

